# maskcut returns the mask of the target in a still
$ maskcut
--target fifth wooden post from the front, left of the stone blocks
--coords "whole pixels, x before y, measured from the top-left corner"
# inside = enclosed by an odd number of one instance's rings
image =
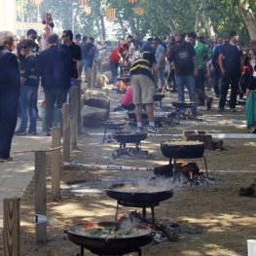
[[[71,148],[77,148],[77,87],[71,89]]]

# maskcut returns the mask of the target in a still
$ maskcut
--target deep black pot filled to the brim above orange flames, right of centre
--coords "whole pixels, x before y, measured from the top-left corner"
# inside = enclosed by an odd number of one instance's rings
[[[179,140],[182,141],[182,140]],[[171,140],[168,141],[169,144],[161,142],[161,150],[165,158],[169,159],[193,159],[201,158],[204,152],[204,143],[194,145],[171,145]]]

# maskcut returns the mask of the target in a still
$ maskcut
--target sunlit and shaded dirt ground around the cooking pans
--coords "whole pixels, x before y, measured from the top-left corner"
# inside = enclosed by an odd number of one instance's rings
[[[216,105],[214,105],[216,107]],[[216,109],[216,108],[215,108]],[[216,116],[216,110],[201,111],[205,120],[244,120],[242,107],[238,112],[225,112]],[[211,115],[211,116],[209,116]],[[228,116],[229,115],[229,116]],[[184,121],[186,122],[186,121]],[[161,128],[161,133],[179,133],[185,129],[207,130],[210,133],[230,132],[246,133],[245,126],[198,126],[177,125]],[[102,132],[102,128],[84,128],[79,137],[80,150],[72,152],[72,160],[91,165],[128,165],[159,166],[168,160],[162,155],[160,142],[166,138],[148,137],[142,142],[153,155],[149,160],[117,159],[112,152],[117,144],[101,144],[101,136],[89,136],[87,132]],[[216,140],[216,139],[214,139]],[[167,241],[157,244],[152,241],[142,247],[143,256],[246,256],[246,239],[256,238],[256,199],[239,197],[241,187],[248,187],[256,178],[254,160],[255,143],[253,139],[224,139],[225,151],[205,150],[209,176],[215,183],[206,187],[175,187],[174,195],[162,201],[156,207],[156,219],[159,222],[177,223],[185,231],[176,242]],[[49,160],[49,167],[51,158]],[[190,160],[186,160],[190,162]],[[192,160],[204,169],[202,159]],[[220,170],[234,170],[221,172]],[[250,172],[243,173],[241,170]],[[63,168],[61,170],[61,198],[53,201],[51,197],[51,169],[47,171],[48,216],[55,220],[55,225],[48,226],[49,241],[40,244],[35,241],[34,225],[34,180],[20,201],[21,220],[21,256],[75,256],[80,247],[69,241],[64,230],[85,221],[114,221],[116,201],[106,196],[104,188],[115,181],[148,179],[152,171],[132,170],[89,170],[82,168]],[[205,173],[204,173],[205,175]],[[84,184],[87,192],[74,190],[70,184]],[[77,183],[76,183],[77,182]],[[90,190],[93,193],[90,193]],[[133,208],[121,207],[120,212]],[[137,209],[140,211],[140,209]],[[2,239],[2,236],[1,236]],[[1,240],[2,243],[2,240]],[[0,254],[1,254],[0,249]],[[85,251],[92,256],[90,251]],[[136,253],[130,255],[137,255]]]

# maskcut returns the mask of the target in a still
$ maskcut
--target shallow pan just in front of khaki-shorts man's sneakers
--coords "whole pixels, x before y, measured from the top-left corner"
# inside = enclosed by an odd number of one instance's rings
[[[147,132],[114,132],[113,138],[120,143],[139,143],[141,140],[147,138]]]

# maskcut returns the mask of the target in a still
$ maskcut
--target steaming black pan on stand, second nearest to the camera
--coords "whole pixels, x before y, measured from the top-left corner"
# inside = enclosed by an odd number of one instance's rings
[[[106,189],[107,196],[117,201],[130,203],[153,203],[168,200],[173,196],[172,189],[161,191],[161,186],[159,192],[136,192],[135,190],[122,192],[120,189],[126,185],[128,185],[128,183],[115,184],[108,187]],[[130,185],[136,187],[137,184],[130,183]],[[156,186],[158,186],[157,183]]]

